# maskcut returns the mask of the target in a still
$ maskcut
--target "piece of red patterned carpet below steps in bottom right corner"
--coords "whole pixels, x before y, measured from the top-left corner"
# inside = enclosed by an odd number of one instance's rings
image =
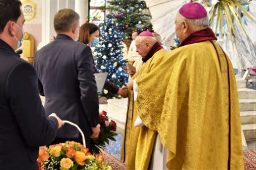
[[[244,151],[244,169],[245,170],[256,169],[256,150]]]

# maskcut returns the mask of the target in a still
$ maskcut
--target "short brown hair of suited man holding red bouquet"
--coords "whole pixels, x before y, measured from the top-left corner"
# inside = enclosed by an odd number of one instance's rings
[[[56,32],[68,32],[75,22],[79,22],[79,15],[76,11],[63,9],[54,16],[54,29]]]

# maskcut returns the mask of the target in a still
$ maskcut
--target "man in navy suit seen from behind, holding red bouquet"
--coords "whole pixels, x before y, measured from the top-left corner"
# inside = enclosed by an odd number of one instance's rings
[[[98,138],[99,99],[90,46],[74,41],[79,32],[79,15],[70,9],[54,16],[56,39],[35,56],[39,90],[45,96],[47,115],[60,113],[62,120],[77,124],[86,137],[86,147]],[[65,141],[83,143],[76,127],[66,124],[52,144]]]

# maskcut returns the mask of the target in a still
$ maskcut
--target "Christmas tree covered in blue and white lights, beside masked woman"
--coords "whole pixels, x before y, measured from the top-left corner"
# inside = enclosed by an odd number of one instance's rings
[[[100,43],[94,50],[95,65],[99,72],[108,72],[108,80],[122,87],[127,84],[128,75],[125,71],[126,61],[122,52],[122,32],[116,28],[116,22],[112,15],[107,15],[104,24],[100,25]],[[108,90],[100,94],[109,98],[117,97]]]

